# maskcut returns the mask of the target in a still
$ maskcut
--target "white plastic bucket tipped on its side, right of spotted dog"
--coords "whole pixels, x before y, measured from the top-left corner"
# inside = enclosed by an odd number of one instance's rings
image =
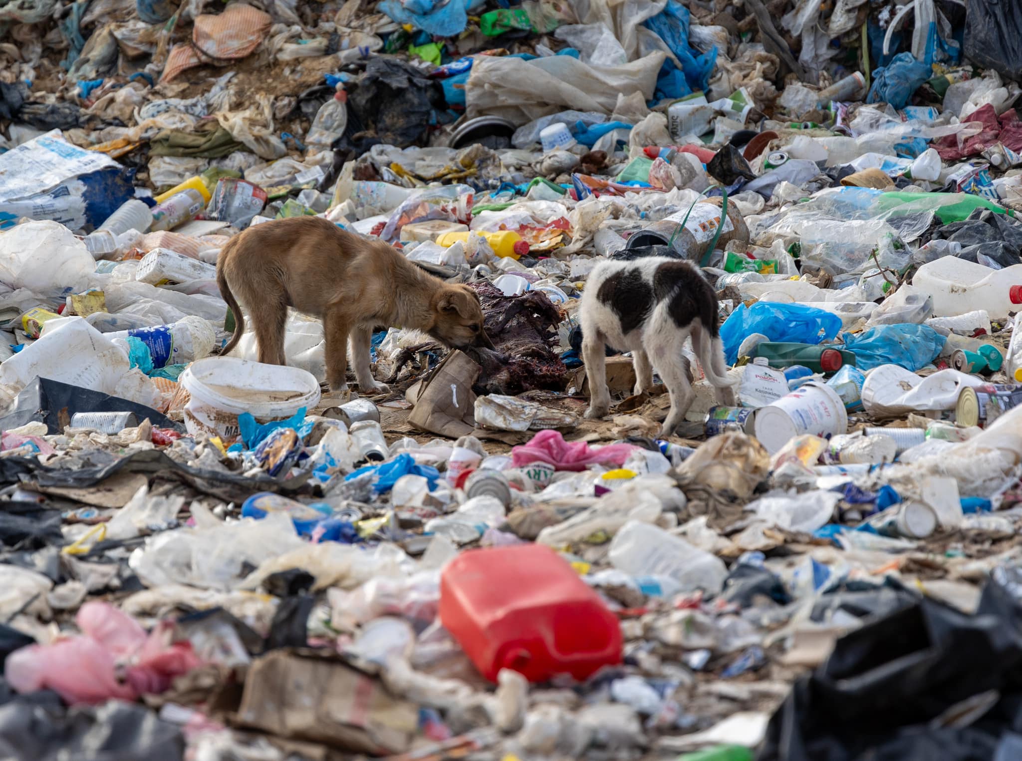
[[[826,384],[810,382],[756,412],[755,437],[771,454],[802,434],[833,436],[848,430],[844,402]]]

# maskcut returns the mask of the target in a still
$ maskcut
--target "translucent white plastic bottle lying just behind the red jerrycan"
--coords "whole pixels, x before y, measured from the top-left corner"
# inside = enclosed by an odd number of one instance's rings
[[[610,563],[632,576],[667,576],[684,591],[717,593],[728,569],[724,561],[652,524],[629,521],[610,542]]]

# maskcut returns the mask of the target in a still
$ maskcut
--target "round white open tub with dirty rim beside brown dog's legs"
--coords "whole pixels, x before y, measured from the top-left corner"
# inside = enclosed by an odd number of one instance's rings
[[[238,437],[238,415],[251,412],[259,422],[290,417],[300,407],[319,403],[319,382],[311,372],[250,362],[235,357],[207,357],[192,362],[180,377],[191,395],[185,405],[185,428],[192,436]]]

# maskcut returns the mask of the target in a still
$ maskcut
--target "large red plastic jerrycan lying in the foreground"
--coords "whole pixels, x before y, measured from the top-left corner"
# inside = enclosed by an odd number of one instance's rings
[[[440,575],[440,622],[490,681],[513,669],[529,681],[585,679],[620,663],[617,618],[542,544],[463,552]]]

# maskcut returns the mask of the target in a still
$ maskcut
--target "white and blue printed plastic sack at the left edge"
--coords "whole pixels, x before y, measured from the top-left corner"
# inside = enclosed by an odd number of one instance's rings
[[[0,228],[19,217],[95,227],[135,197],[132,174],[104,153],[71,144],[59,130],[47,132],[0,153]]]

